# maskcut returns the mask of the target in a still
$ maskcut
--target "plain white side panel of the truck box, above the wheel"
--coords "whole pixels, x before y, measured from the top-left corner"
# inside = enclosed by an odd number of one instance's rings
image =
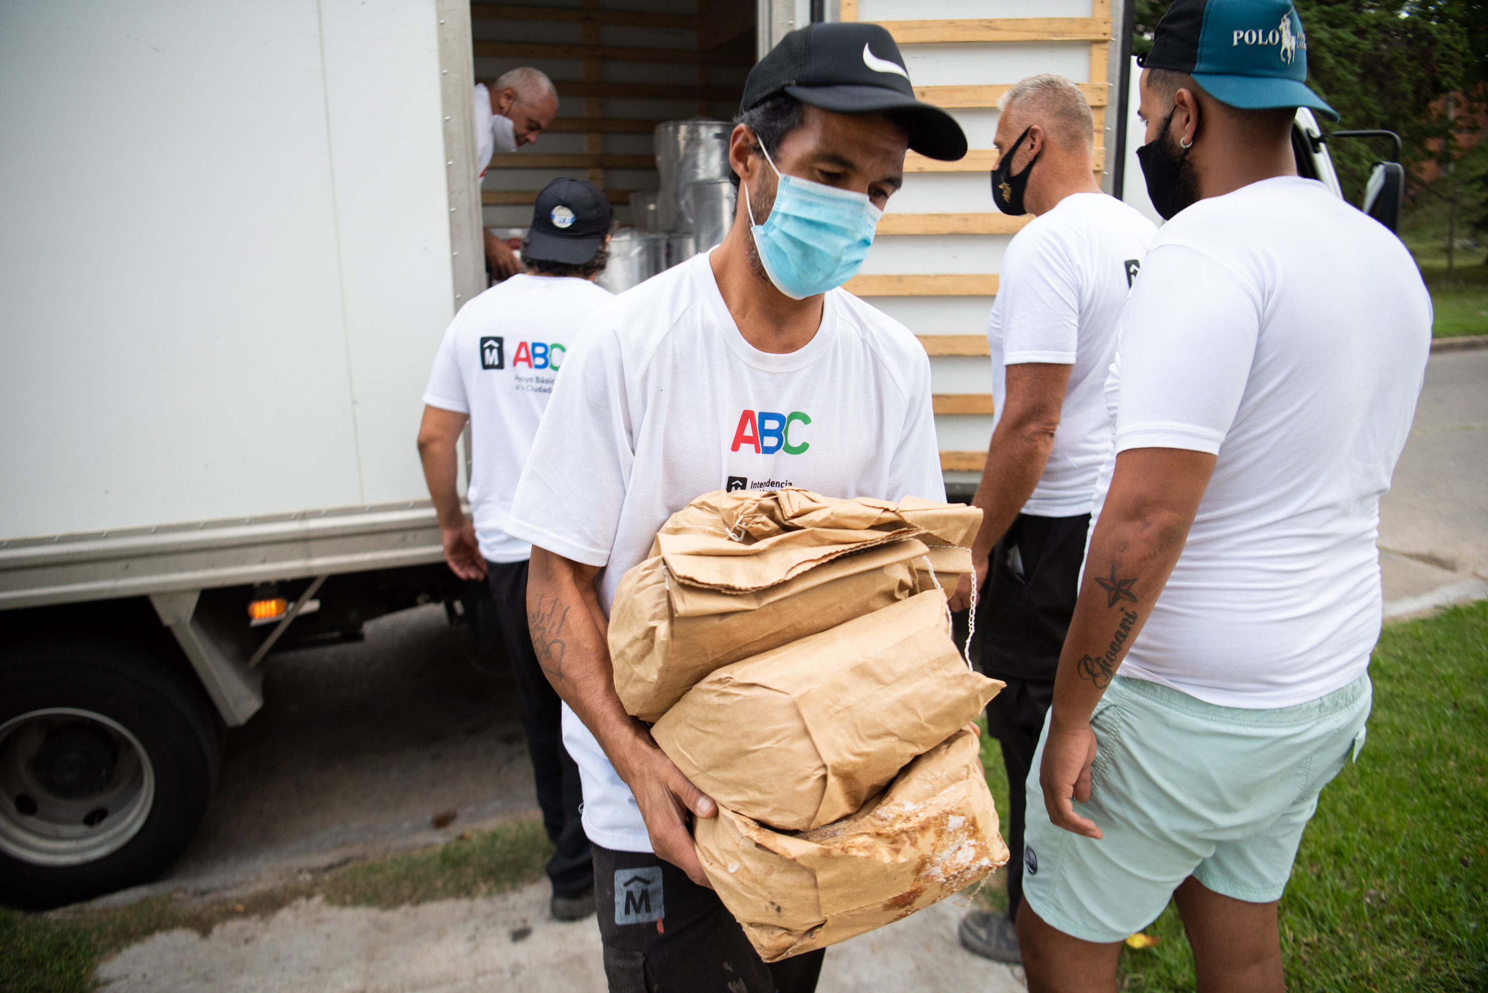
[[[418,500],[433,3],[7,4],[0,539]]]

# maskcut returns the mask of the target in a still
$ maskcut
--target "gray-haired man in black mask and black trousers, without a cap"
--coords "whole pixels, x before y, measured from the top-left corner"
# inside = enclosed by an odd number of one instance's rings
[[[1101,192],[1092,173],[1091,106],[1062,76],[1030,76],[1000,101],[992,199],[1034,214],[1003,256],[987,338],[997,420],[975,503],[982,670],[1007,683],[987,707],[1012,794],[1006,822],[1007,914],[973,911],[961,944],[1019,962],[1024,780],[1054,694],[1091,521],[1110,447],[1103,384],[1131,278],[1156,228]],[[969,606],[963,578],[954,609]],[[1030,872],[1034,869],[1030,866]]]

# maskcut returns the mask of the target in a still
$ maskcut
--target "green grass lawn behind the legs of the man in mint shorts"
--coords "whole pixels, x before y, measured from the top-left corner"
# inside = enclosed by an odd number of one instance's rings
[[[1488,990],[1488,601],[1385,628],[1369,676],[1369,743],[1323,791],[1281,898],[1287,989]],[[982,755],[1006,811],[997,744]],[[1177,910],[1147,933],[1162,942],[1122,948],[1120,989],[1193,990]]]

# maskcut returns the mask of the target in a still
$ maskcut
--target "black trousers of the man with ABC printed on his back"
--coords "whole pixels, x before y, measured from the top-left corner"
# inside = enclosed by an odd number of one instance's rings
[[[537,805],[543,811],[548,840],[558,850],[548,862],[548,878],[555,896],[583,896],[594,886],[589,838],[579,822],[583,786],[579,767],[562,746],[562,701],[548,682],[533,637],[527,628],[527,563],[485,564],[496,612],[501,621],[501,640],[512,661],[516,703],[527,731],[527,753],[533,759]]]

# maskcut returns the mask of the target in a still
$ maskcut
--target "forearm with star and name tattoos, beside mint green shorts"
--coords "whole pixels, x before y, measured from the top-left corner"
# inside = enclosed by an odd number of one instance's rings
[[[1085,725],[1168,584],[1214,456],[1138,448],[1116,462],[1059,654],[1055,721]]]

